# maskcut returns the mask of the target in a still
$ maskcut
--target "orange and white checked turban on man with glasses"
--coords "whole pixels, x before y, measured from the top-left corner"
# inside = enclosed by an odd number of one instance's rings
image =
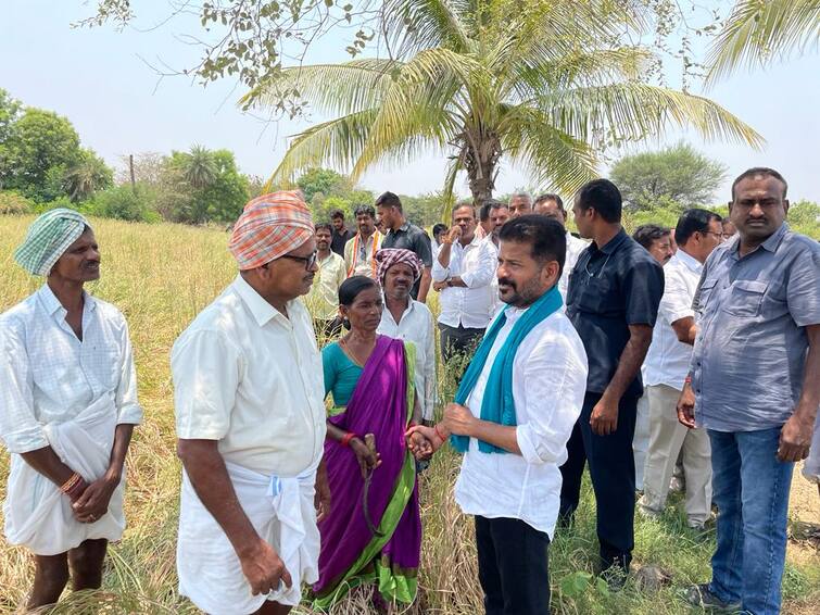
[[[253,269],[295,250],[313,235],[313,217],[301,192],[282,190],[244,206],[228,250],[240,271]]]

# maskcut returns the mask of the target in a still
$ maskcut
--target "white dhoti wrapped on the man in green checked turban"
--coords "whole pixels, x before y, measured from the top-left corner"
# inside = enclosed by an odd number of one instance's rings
[[[60,460],[88,482],[109,468],[117,411],[113,396],[104,394],[72,421],[43,425],[49,444]],[[119,540],[125,529],[124,481],[109,502],[109,511],[91,524],[79,523],[71,501],[51,480],[18,454],[11,456],[9,487],[3,504],[5,539],[37,555],[64,553],[89,539]]]

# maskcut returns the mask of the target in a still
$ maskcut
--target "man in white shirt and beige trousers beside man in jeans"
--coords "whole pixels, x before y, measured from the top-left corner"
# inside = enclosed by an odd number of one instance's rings
[[[639,510],[649,516],[664,512],[672,470],[682,452],[686,523],[703,528],[711,514],[709,436],[705,429],[686,429],[681,425],[676,407],[689,374],[697,331],[692,300],[703,263],[722,241],[721,217],[706,210],[687,210],[678,221],[674,236],[678,252],[664,267],[664,297],[644,362],[649,442]]]

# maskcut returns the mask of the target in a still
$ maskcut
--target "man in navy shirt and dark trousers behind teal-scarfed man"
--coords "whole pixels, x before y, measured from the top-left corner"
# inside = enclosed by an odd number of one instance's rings
[[[632,560],[632,436],[643,393],[640,371],[664,293],[660,265],[621,227],[621,204],[615,184],[596,179],[579,190],[572,208],[581,237],[592,243],[569,277],[567,316],[586,349],[590,372],[581,417],[562,466],[560,502],[567,523],[578,506],[588,461],[597,507],[600,569],[608,573],[614,589],[622,585]]]

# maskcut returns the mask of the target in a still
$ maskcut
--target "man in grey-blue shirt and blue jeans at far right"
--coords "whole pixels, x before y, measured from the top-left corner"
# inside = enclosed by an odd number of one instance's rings
[[[820,404],[820,246],[789,229],[786,181],[755,167],[732,184],[737,236],[708,258],[695,293],[697,335],[678,402],[711,444],[717,549],[693,604],[780,613],[794,463]]]

